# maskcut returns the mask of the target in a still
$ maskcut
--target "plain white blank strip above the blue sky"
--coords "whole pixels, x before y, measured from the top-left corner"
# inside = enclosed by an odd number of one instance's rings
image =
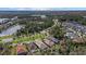
[[[0,0],[0,8],[86,8],[86,0]]]

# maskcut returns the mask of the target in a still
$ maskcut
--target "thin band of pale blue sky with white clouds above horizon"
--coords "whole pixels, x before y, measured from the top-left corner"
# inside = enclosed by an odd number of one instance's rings
[[[0,8],[0,11],[86,11],[86,8]]]

